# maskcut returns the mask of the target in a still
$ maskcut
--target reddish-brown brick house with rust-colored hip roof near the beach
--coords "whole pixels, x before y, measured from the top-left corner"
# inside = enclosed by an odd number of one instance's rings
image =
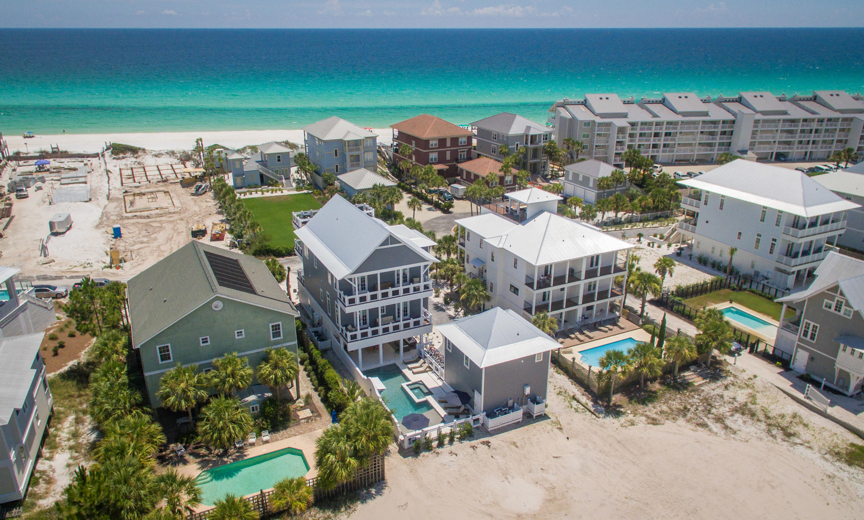
[[[473,132],[449,123],[441,117],[421,114],[391,124],[393,144],[407,144],[410,155],[393,153],[395,162],[408,161],[418,166],[431,164],[438,174],[453,181],[459,174],[456,165],[471,159]]]

